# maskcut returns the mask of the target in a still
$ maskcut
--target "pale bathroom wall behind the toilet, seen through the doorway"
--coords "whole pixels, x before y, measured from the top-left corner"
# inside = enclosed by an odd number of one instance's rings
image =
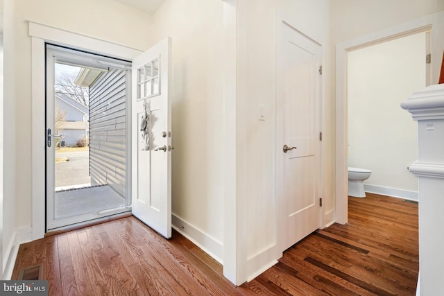
[[[376,193],[418,191],[407,171],[418,157],[418,132],[400,103],[425,87],[425,34],[348,53],[348,165],[372,170],[365,183]]]

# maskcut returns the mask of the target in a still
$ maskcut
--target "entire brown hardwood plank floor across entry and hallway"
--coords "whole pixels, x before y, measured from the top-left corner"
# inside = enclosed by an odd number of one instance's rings
[[[42,263],[49,295],[415,295],[418,204],[349,198],[349,224],[318,230],[273,268],[236,287],[186,238],[134,217],[20,246],[12,279]]]

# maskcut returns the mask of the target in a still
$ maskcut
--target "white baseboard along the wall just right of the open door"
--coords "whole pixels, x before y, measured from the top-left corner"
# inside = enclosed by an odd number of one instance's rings
[[[205,253],[209,254],[214,260],[223,264],[223,243],[212,238],[197,227],[185,222],[175,214],[172,215],[171,224],[182,236],[188,238],[191,242],[196,244]]]

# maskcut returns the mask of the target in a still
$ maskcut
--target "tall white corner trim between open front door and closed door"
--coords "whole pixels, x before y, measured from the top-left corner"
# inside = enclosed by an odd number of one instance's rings
[[[245,64],[241,61],[246,55],[246,20],[239,15],[246,11],[246,1],[223,1],[223,72],[224,72],[224,126],[225,172],[223,202],[223,275],[233,284],[240,286],[247,279],[246,254],[246,209],[248,209],[241,191],[241,168],[238,159],[244,153],[239,147],[239,137],[245,126],[239,118],[244,110],[246,84]]]

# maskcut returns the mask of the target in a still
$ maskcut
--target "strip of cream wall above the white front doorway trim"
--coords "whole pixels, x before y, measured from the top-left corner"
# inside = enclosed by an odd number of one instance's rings
[[[31,20],[135,49],[146,50],[151,43],[151,16],[117,1],[17,0],[16,2],[19,30],[27,29],[26,20]]]

